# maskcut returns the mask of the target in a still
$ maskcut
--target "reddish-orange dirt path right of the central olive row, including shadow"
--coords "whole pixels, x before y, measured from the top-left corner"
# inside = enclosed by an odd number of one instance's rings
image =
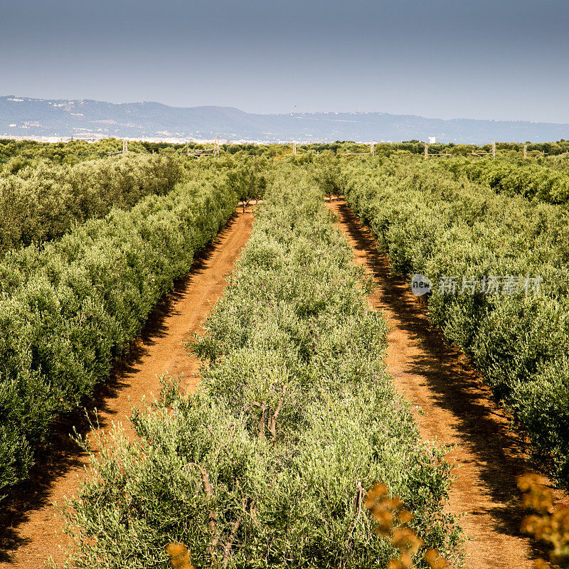
[[[378,285],[371,303],[388,318],[386,363],[400,392],[417,407],[415,419],[424,440],[456,445],[447,454],[456,480],[450,511],[464,514],[467,569],[523,569],[538,555],[519,533],[521,512],[515,477],[528,466],[519,440],[492,403],[491,393],[467,366],[464,356],[430,329],[425,304],[405,280],[390,274],[388,258],[378,254],[371,231],[343,201],[329,206],[349,238],[356,262],[373,273]]]

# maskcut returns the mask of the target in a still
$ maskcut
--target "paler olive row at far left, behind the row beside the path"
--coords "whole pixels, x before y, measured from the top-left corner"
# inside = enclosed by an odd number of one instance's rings
[[[0,256],[11,248],[58,239],[77,223],[128,209],[179,181],[176,161],[161,156],[110,156],[74,166],[11,159],[0,176]]]

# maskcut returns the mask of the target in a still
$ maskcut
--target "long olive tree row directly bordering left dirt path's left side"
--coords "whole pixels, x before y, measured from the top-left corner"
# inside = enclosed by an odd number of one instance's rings
[[[235,211],[204,171],[130,211],[113,208],[42,248],[0,262],[0,488],[26,477],[59,414],[73,410],[122,353],[193,255]]]

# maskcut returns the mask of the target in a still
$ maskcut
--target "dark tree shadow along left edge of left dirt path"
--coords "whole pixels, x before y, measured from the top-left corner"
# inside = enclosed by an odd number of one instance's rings
[[[28,543],[28,540],[18,536],[18,526],[27,521],[32,511],[48,505],[50,489],[54,482],[70,470],[80,468],[85,464],[86,453],[71,438],[73,427],[80,435],[86,435],[90,431],[90,425],[96,423],[96,418],[94,413],[87,413],[86,410],[97,409],[99,413],[112,414],[110,401],[116,399],[122,390],[129,387],[129,383],[124,381],[124,378],[138,371],[137,366],[148,353],[149,346],[152,346],[156,339],[164,337],[166,334],[165,319],[175,314],[176,302],[184,295],[196,275],[203,272],[208,260],[211,259],[216,241],[230,232],[236,219],[237,216],[234,215],[228,220],[217,238],[196,255],[190,272],[177,280],[172,292],[156,304],[139,338],[129,347],[126,356],[117,359],[110,378],[105,383],[97,385],[92,397],[84,401],[83,410],[77,410],[75,413],[58,418],[50,435],[50,442],[38,453],[36,464],[31,469],[28,480],[15,486],[6,498],[0,501],[2,511],[0,563],[10,563],[12,553]],[[100,419],[99,425],[107,427],[109,421]]]

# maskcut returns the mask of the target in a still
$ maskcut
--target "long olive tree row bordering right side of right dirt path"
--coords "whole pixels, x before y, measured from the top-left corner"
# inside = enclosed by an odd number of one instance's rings
[[[472,168],[492,176],[492,164]],[[541,467],[569,484],[568,213],[452,179],[447,168],[418,159],[354,162],[344,170],[346,198],[396,272],[435,285],[444,276],[541,275],[540,293],[528,296],[439,294],[435,286],[429,312],[511,410]]]

